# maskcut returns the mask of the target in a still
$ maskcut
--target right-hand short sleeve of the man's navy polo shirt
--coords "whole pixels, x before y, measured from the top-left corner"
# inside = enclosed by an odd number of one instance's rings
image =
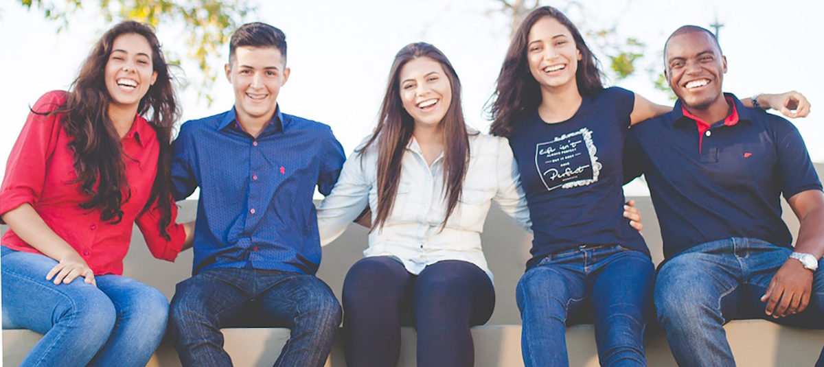
[[[789,200],[797,193],[822,189],[815,167],[812,165],[807,146],[798,129],[784,118],[775,117],[775,154],[778,157],[781,193]]]

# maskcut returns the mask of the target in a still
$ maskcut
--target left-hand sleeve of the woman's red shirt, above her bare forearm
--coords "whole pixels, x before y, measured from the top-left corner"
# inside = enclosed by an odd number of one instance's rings
[[[43,192],[46,163],[54,153],[63,126],[59,114],[46,115],[65,102],[65,92],[50,91],[31,108],[8,156],[0,186],[0,215],[25,203],[34,205]],[[5,222],[0,219],[0,224]]]

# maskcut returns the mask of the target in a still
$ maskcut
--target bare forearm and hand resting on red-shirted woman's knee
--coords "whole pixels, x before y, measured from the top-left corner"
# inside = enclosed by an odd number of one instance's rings
[[[89,284],[97,285],[94,272],[85,260],[71,245],[54,233],[49,225],[43,221],[40,214],[30,204],[24,203],[7,211],[2,220],[26,244],[40,251],[49,258],[58,262],[49,273],[46,280],[54,278],[54,284],[71,283],[77,276],[82,276]]]

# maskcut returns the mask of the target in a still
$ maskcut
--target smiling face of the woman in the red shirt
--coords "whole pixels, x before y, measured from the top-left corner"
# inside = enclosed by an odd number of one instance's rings
[[[105,87],[111,104],[137,109],[149,86],[157,79],[152,47],[142,35],[119,35],[105,64]]]

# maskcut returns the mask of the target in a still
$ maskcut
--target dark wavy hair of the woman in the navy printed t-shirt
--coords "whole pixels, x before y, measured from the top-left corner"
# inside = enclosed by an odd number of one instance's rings
[[[495,91],[487,103],[487,112],[493,120],[489,132],[500,137],[508,137],[517,123],[518,116],[531,111],[541,105],[541,86],[532,77],[527,63],[527,43],[529,31],[537,21],[545,16],[555,18],[560,24],[567,27],[575,41],[575,47],[581,53],[578,61],[578,71],[575,72],[575,82],[578,93],[592,96],[604,89],[601,79],[602,72],[598,68],[598,60],[587,43],[583,41],[581,32],[555,7],[539,7],[529,14],[518,26],[512,41],[509,43],[506,58],[498,75]]]

